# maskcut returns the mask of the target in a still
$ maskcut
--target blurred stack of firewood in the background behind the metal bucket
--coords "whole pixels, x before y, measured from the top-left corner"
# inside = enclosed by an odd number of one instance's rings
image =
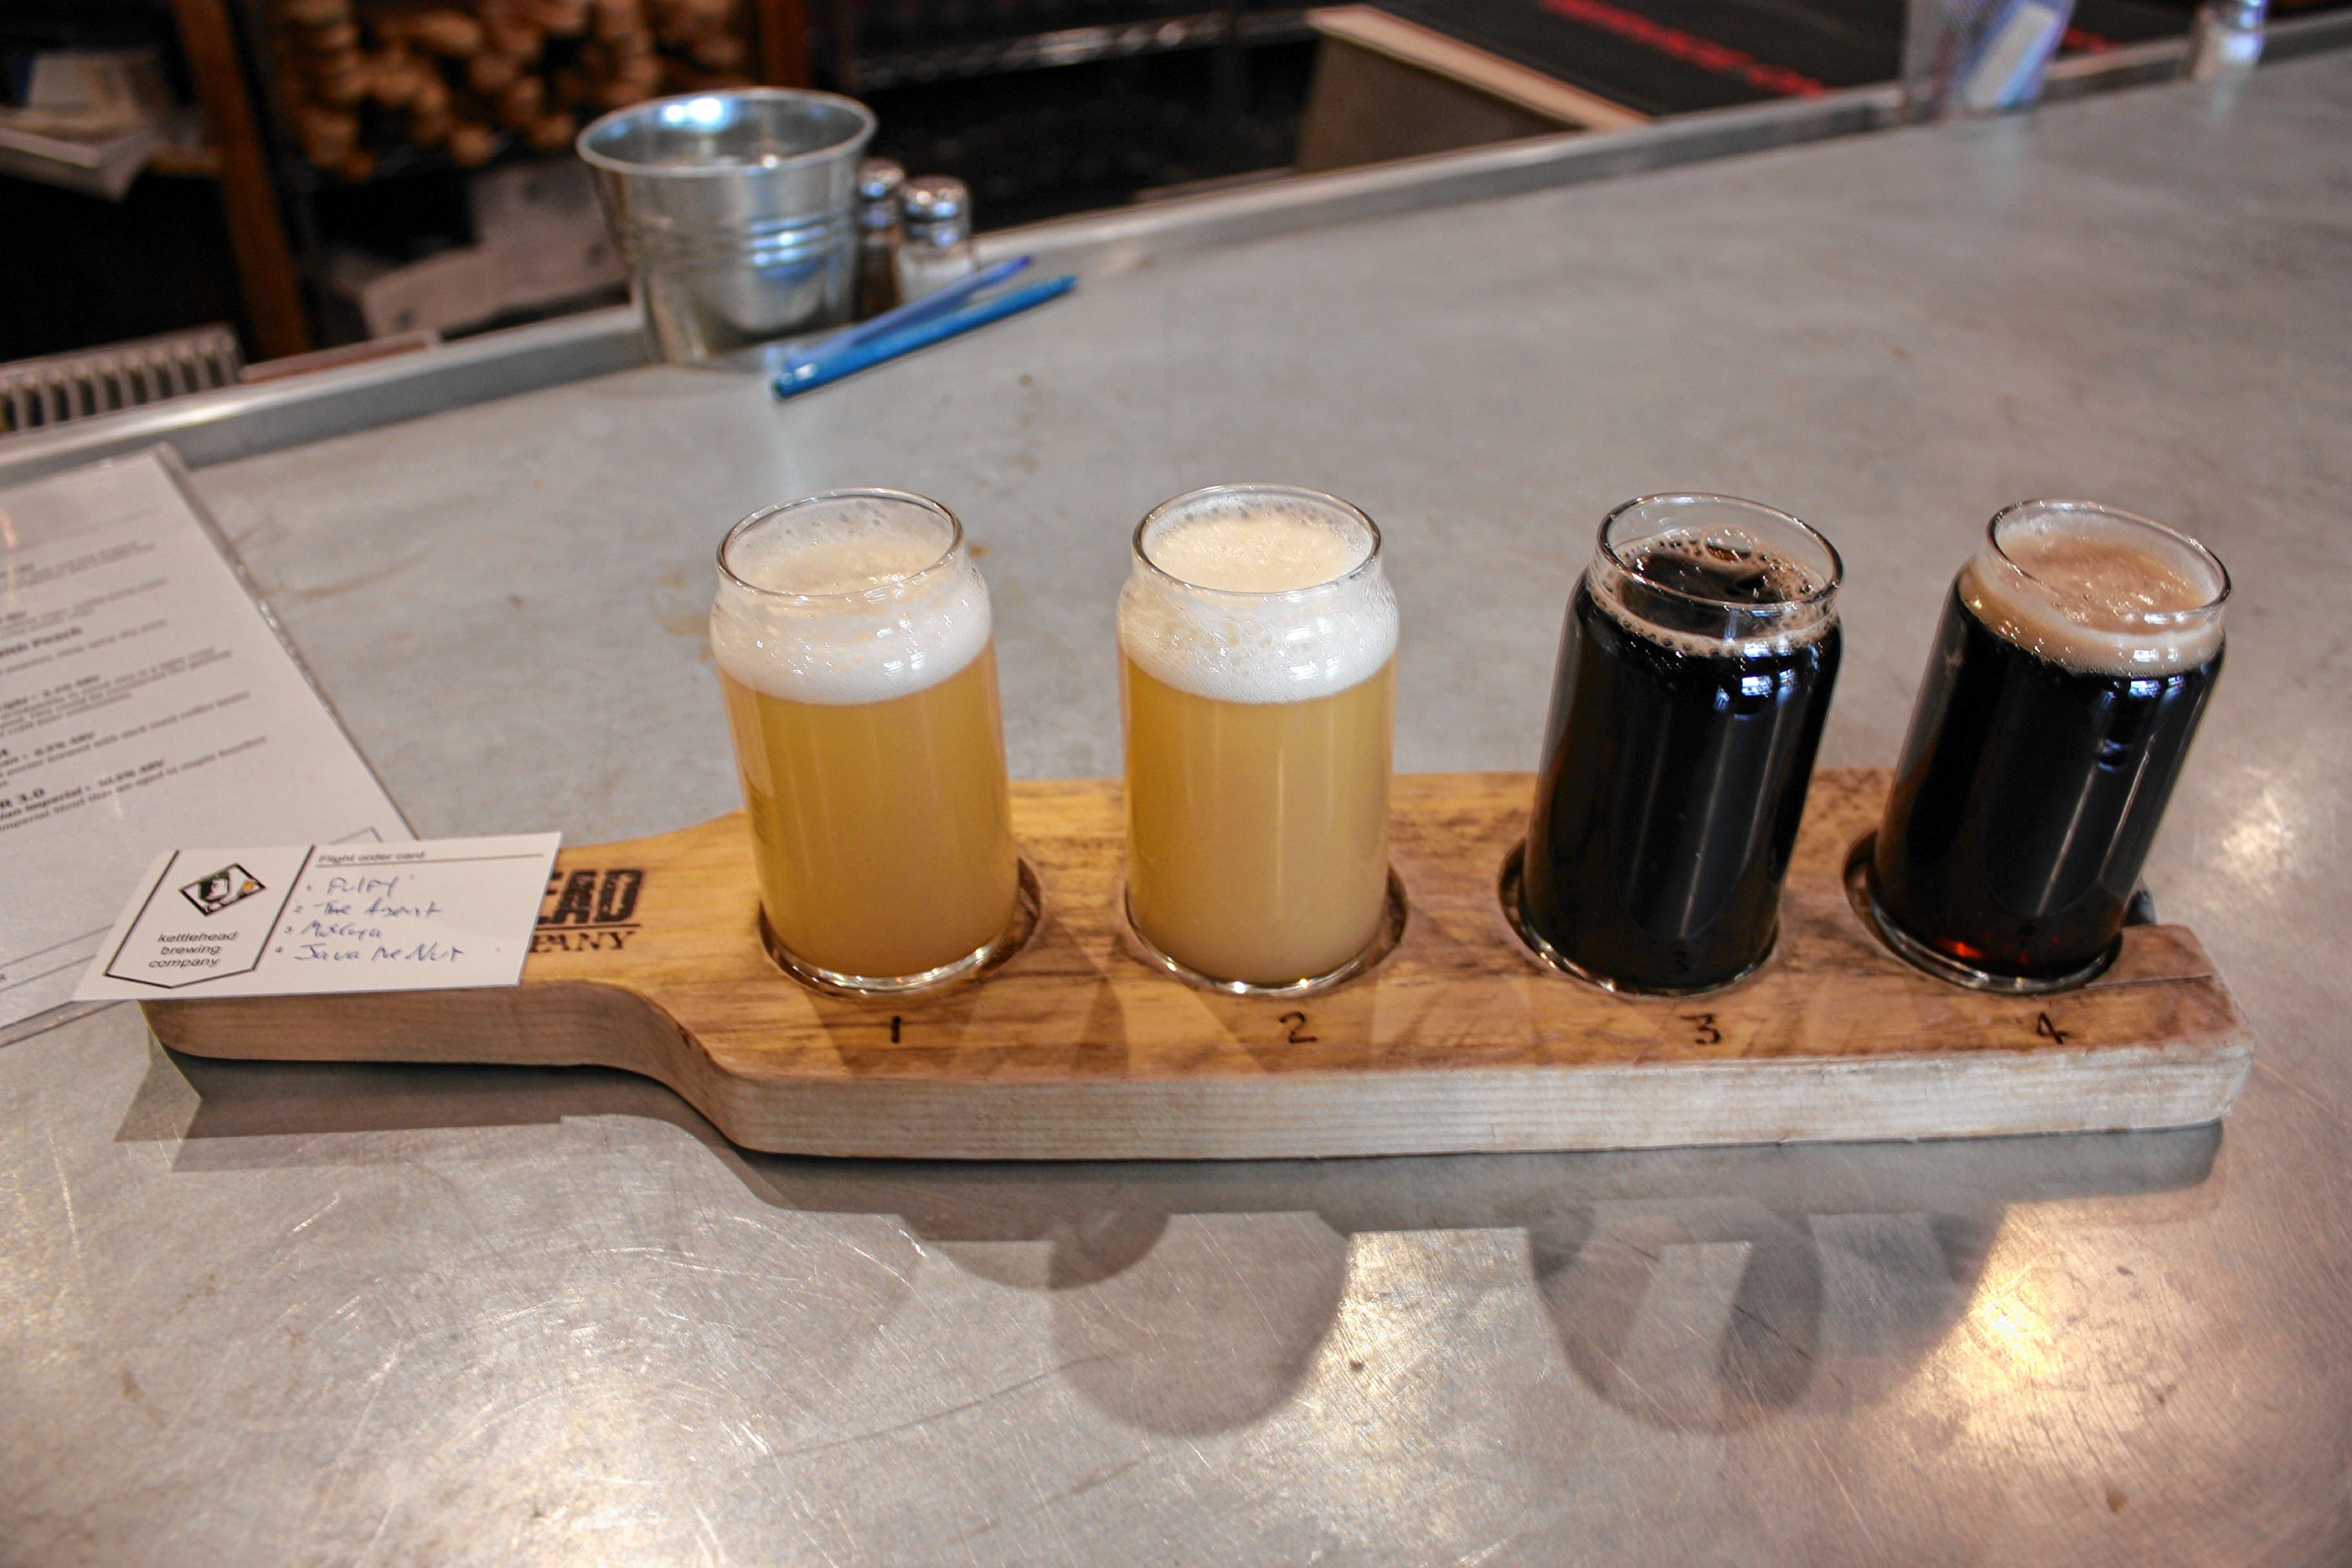
[[[557,153],[609,108],[750,80],[739,0],[273,0],[270,19],[287,127],[343,179],[405,148]]]

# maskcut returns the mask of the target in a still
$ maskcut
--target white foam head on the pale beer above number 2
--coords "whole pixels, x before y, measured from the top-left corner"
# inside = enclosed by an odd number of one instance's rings
[[[1120,649],[1152,679],[1223,703],[1303,703],[1381,672],[1397,595],[1381,531],[1336,496],[1221,484],[1136,529]]]

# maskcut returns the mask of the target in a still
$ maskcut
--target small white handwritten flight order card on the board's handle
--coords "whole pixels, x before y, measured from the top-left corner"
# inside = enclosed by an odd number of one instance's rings
[[[73,999],[515,985],[555,842],[174,849],[148,867]]]

